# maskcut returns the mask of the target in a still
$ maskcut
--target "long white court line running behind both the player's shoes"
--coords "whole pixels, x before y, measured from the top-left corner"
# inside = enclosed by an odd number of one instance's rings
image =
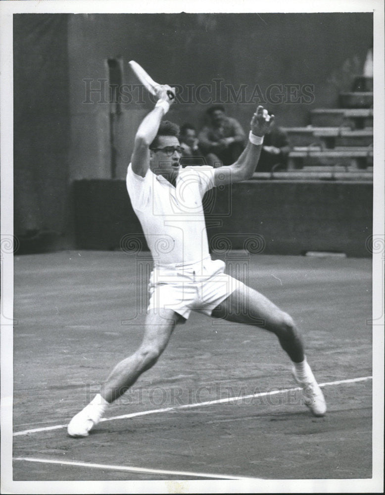
[[[372,376],[364,376],[361,378],[349,378],[347,380],[337,380],[336,382],[325,382],[325,383],[320,383],[320,387],[327,387],[331,385],[341,385],[344,383],[357,383],[357,382],[365,382],[367,380],[372,380]],[[100,420],[100,423],[103,421],[113,421],[115,419],[128,419],[128,418],[134,418],[136,416],[146,416],[147,414],[156,414],[156,413],[161,413],[161,412],[168,412],[168,411],[175,411],[176,409],[191,409],[193,407],[202,407],[205,405],[212,405],[212,404],[221,404],[224,402],[233,402],[236,400],[244,400],[244,399],[249,399],[249,398],[256,398],[256,397],[264,397],[264,396],[273,396],[276,394],[282,394],[285,392],[292,392],[295,390],[301,390],[300,387],[296,387],[294,389],[281,389],[281,390],[272,390],[270,392],[260,392],[258,394],[250,394],[248,396],[238,396],[238,397],[225,397],[223,399],[215,399],[215,400],[208,400],[206,402],[196,402],[194,404],[183,404],[183,405],[176,405],[173,407],[164,407],[163,409],[150,409],[148,411],[141,411],[141,412],[133,412],[130,414],[122,414],[121,416],[112,416],[110,418],[103,418]],[[55,426],[46,426],[44,428],[34,428],[32,430],[23,430],[20,432],[15,432],[13,434],[14,437],[18,437],[20,435],[28,435],[30,433],[39,433],[39,432],[47,432],[50,430],[59,430],[60,428],[66,428],[67,425],[55,425]]]

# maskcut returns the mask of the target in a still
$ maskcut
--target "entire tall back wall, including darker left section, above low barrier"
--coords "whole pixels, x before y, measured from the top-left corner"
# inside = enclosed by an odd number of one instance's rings
[[[229,98],[223,86],[201,97],[224,101],[245,129],[272,84],[283,88],[281,96],[272,94],[280,104],[266,103],[278,122],[306,125],[312,108],[337,106],[338,92],[362,72],[372,25],[370,13],[14,15],[15,235],[48,231],[56,247],[75,246],[72,184],[112,177],[111,112],[115,178],[124,178],[150,100],[138,100],[137,92],[120,108],[111,105],[108,59],[121,65],[123,85],[138,83],[131,59],[160,83],[192,85],[190,102],[168,114],[179,124],[202,124],[208,104],[194,91],[214,88],[217,79],[235,92],[245,85],[243,101]],[[87,94],[87,84],[94,90],[107,84],[107,94]],[[290,84],[312,85],[314,98],[290,102]]]

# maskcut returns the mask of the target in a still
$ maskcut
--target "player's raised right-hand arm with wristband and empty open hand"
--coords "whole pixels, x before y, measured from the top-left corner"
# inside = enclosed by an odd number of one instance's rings
[[[244,181],[253,175],[261,154],[263,136],[273,120],[274,115],[268,115],[267,110],[259,105],[250,122],[250,134],[246,148],[235,163],[214,170],[215,186]]]

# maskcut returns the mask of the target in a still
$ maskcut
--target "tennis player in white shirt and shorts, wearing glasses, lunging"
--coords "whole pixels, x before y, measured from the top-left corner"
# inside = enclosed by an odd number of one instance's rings
[[[208,249],[203,195],[211,188],[251,177],[274,116],[258,106],[247,146],[234,164],[182,168],[179,128],[162,121],[175,101],[170,99],[169,90],[174,91],[168,85],[159,87],[159,99],[137,131],[127,171],[131,203],[154,260],[143,342],[115,366],[101,393],[72,418],[68,434],[88,436],[107,406],[156,363],[176,325],[184,323],[192,310],[273,332],[292,361],[304,403],[315,416],[324,416],[326,402],[292,318],[262,294],[227,275],[225,263],[211,260]]]

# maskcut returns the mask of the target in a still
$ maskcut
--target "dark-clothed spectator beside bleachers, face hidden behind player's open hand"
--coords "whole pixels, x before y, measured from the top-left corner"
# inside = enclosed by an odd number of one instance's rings
[[[289,151],[290,143],[286,132],[275,125],[270,126],[265,134],[257,172],[270,172],[273,167],[274,170],[286,170]]]

